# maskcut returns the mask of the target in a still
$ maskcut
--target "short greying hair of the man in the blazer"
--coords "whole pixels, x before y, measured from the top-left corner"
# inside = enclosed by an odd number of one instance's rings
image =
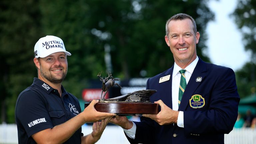
[[[184,19],[190,19],[193,23],[193,31],[194,33],[196,34],[197,32],[197,29],[196,29],[196,22],[195,20],[188,14],[184,14],[184,13],[179,13],[179,14],[176,14],[174,16],[172,16],[171,18],[169,18],[167,21],[166,21],[166,25],[165,25],[165,32],[166,32],[166,36],[169,37],[169,29],[168,29],[168,25],[170,23],[170,21],[174,20],[184,20]]]

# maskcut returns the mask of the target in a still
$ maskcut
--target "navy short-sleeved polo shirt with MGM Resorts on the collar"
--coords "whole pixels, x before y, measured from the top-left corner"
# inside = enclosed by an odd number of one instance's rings
[[[81,113],[78,99],[66,92],[62,94],[38,78],[22,91],[17,99],[15,119],[18,140],[22,144],[36,143],[31,135],[62,124]],[[81,144],[82,128],[79,128],[65,143]]]

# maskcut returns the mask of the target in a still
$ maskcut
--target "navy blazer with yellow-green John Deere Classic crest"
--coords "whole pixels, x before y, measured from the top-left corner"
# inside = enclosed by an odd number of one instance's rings
[[[147,89],[157,90],[150,97],[152,103],[162,100],[172,108],[172,72],[173,66],[148,79]],[[167,75],[170,80],[159,83],[159,79]],[[203,107],[192,108],[190,99],[194,95],[204,98]],[[239,101],[234,71],[199,58],[179,106],[179,111],[184,112],[184,128],[177,124],[161,126],[141,117],[141,122],[134,122],[137,126],[135,139],[126,137],[130,143],[143,144],[222,144],[224,134],[233,129],[237,119]]]

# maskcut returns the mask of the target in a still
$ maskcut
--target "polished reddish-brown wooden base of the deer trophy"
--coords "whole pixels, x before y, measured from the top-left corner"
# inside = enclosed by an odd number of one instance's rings
[[[89,104],[85,103],[84,107],[86,108]],[[128,116],[136,114],[158,114],[158,105],[155,103],[137,102],[99,102],[94,107],[99,112]]]

